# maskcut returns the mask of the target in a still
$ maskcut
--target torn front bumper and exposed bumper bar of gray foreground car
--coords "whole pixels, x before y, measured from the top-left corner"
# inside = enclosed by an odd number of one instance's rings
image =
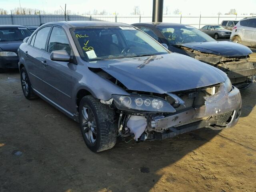
[[[233,86],[229,93],[209,97],[206,99],[206,105],[199,108],[191,108],[164,118],[153,117],[151,127],[153,130],[163,130],[163,134],[168,134],[168,137],[207,126],[216,129],[230,128],[237,124],[241,106],[240,92]],[[227,114],[229,116],[226,120],[220,122],[219,119]]]

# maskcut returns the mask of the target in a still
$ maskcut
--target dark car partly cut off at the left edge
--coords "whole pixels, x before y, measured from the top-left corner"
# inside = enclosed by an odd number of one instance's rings
[[[32,32],[20,25],[0,25],[0,72],[18,68],[18,48]]]

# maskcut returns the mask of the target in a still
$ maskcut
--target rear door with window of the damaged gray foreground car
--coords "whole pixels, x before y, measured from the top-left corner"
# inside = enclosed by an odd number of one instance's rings
[[[29,46],[24,50],[26,54],[26,68],[31,84],[34,89],[43,92],[44,83],[42,80],[42,72],[44,64],[42,54],[46,51],[46,41],[50,32],[51,26],[46,26],[40,30],[29,42]]]

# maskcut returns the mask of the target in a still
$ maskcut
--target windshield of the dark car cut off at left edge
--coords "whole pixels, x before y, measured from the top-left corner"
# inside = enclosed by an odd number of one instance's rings
[[[0,41],[23,41],[32,34],[25,27],[0,28]]]

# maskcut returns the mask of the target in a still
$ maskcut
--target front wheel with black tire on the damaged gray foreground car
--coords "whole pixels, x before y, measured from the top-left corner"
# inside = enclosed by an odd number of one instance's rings
[[[79,104],[80,130],[85,144],[93,152],[111,149],[116,144],[116,112],[91,95]]]

